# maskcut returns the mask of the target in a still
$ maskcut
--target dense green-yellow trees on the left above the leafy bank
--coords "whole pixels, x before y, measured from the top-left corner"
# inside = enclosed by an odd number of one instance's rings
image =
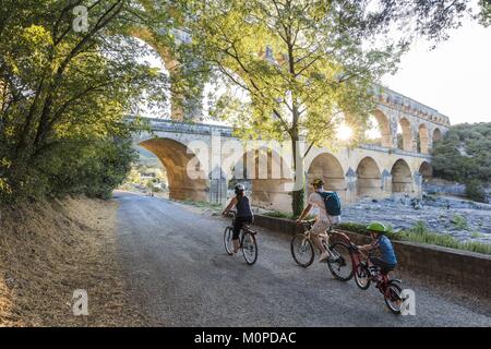
[[[151,3],[152,1],[145,1]],[[84,193],[108,197],[129,171],[124,122],[167,79],[125,34],[148,15],[134,2],[96,1],[86,33],[76,1],[9,0],[0,14],[0,203]],[[80,3],[80,1],[79,1]]]

